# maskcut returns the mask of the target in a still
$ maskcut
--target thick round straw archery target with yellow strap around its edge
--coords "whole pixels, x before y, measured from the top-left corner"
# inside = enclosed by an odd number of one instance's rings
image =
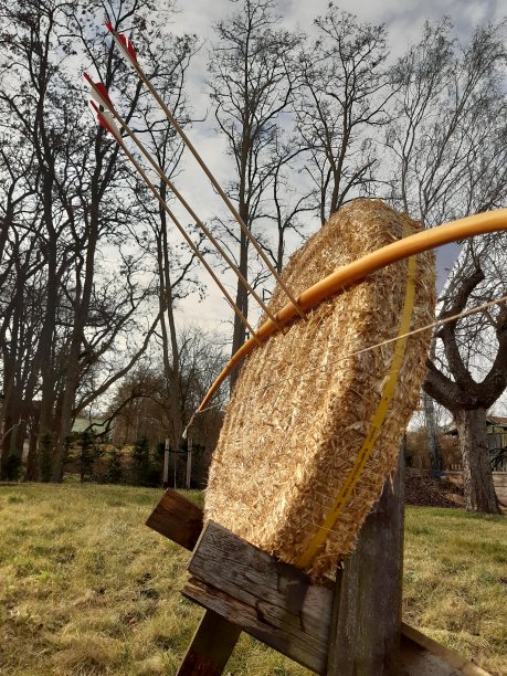
[[[291,257],[283,279],[298,295],[337,267],[419,229],[380,201],[356,200]],[[430,331],[408,339],[397,378],[390,377],[395,342],[355,352],[397,336],[406,279],[406,261],[384,267],[321,303],[306,321],[273,336],[245,360],[210,468],[207,518],[314,577],[352,551],[418,405]],[[275,289],[270,308],[277,311],[285,303]],[[422,254],[411,328],[432,321],[434,303],[433,256]],[[395,389],[379,425],[390,380]],[[342,504],[334,520],[337,500]]]

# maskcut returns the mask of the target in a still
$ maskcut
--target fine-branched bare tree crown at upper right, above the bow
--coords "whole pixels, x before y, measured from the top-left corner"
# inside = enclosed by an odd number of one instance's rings
[[[461,45],[444,19],[392,70],[390,199],[424,225],[505,202],[505,23],[477,28]]]

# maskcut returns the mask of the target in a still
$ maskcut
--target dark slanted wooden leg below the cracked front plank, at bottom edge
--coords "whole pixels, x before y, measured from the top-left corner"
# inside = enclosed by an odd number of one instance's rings
[[[192,638],[178,676],[220,676],[241,629],[208,610]]]

